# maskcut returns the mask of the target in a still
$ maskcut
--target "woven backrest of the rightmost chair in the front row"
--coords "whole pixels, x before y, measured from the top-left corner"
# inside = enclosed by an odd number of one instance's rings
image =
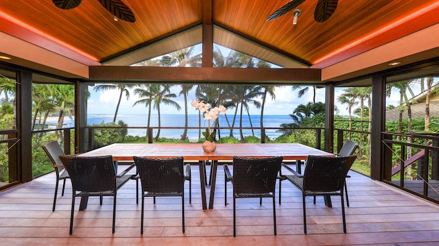
[[[305,193],[340,191],[357,156],[308,156],[303,174]]]

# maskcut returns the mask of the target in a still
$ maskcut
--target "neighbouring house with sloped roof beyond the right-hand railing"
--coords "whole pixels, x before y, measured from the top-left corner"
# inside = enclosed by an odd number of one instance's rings
[[[436,93],[436,86],[434,90],[430,93],[430,117],[439,116],[439,95]],[[425,117],[425,97],[427,97],[427,91],[420,93],[416,97],[410,99],[410,101],[416,101],[412,104],[412,118]],[[407,110],[403,112],[403,119],[408,118]],[[398,108],[393,108],[392,110],[385,111],[385,121],[397,121],[399,119]]]

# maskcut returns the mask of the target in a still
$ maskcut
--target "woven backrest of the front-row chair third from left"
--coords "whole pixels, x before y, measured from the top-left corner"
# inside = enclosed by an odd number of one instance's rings
[[[234,193],[273,193],[283,157],[233,157]]]

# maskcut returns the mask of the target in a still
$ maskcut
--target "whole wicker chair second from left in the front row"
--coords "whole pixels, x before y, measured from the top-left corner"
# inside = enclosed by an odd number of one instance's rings
[[[186,164],[182,157],[175,158],[143,158],[134,156],[142,189],[141,230],[143,234],[143,217],[145,197],[181,197],[182,203],[182,231],[185,233],[185,180],[189,180],[191,190],[191,165]],[[189,191],[190,192],[190,191]],[[190,199],[189,199],[189,202]]]

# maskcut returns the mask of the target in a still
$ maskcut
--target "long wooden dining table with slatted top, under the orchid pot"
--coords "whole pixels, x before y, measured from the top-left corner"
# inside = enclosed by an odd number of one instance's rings
[[[295,160],[296,170],[300,173],[300,161],[307,160],[308,156],[333,156],[333,153],[314,149],[299,143],[243,143],[243,144],[217,144],[213,152],[204,152],[202,144],[198,143],[115,143],[101,147],[79,156],[112,156],[114,161],[132,161],[132,156],[152,158],[168,158],[182,156],[187,161],[198,161],[200,167],[200,184],[202,195],[202,208],[207,209],[206,203],[206,177],[203,162],[211,161],[211,191],[209,209],[213,208],[215,198],[215,183],[218,161],[232,161],[233,156],[263,158],[270,156],[283,156],[283,160]],[[330,201],[329,201],[330,202]],[[330,204],[327,204],[330,206]]]

